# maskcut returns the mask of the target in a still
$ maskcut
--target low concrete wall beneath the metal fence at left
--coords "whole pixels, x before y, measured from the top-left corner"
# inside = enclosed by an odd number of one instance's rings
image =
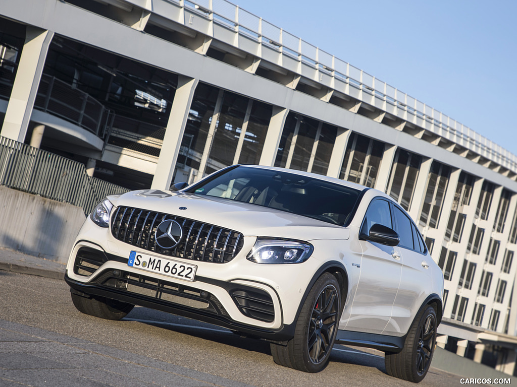
[[[66,263],[83,209],[0,186],[0,246]]]

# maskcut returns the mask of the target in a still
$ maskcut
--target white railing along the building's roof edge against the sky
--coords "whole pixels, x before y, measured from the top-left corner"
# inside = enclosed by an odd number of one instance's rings
[[[142,3],[138,0],[126,1],[137,6]],[[360,101],[375,105],[408,122],[413,122],[425,130],[517,172],[517,156],[488,138],[396,87],[288,33],[261,17],[241,9],[238,5],[226,0],[164,1],[185,10],[185,12],[179,12],[180,15],[183,15],[183,20],[177,15],[174,17],[171,15],[171,20],[183,22],[188,28],[196,28],[195,23],[192,24],[190,17],[186,15],[186,11],[188,10],[190,15],[195,13],[226,30],[233,31],[238,36],[246,37],[267,49],[276,51],[282,57],[298,61],[300,65],[316,70],[320,76],[324,74],[331,77],[330,87],[336,90],[345,91]],[[201,32],[206,33],[204,30]],[[214,38],[218,39],[213,28],[211,33]],[[224,41],[224,38],[221,37],[221,40]],[[235,39],[234,45],[238,46],[238,39]],[[256,52],[252,54],[256,55]],[[299,68],[301,69],[302,66]],[[301,70],[298,70],[298,73],[301,74]],[[321,79],[320,76],[315,79]],[[341,87],[342,85],[343,87]]]

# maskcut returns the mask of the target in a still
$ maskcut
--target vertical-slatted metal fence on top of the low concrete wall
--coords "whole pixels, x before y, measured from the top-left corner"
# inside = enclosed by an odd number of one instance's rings
[[[89,214],[107,195],[129,189],[92,178],[84,164],[0,137],[0,185],[82,207]]]

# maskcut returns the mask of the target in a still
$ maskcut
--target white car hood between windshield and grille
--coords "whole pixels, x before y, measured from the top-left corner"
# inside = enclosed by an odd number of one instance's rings
[[[115,206],[129,206],[218,225],[245,236],[299,240],[348,239],[348,229],[273,208],[185,192],[139,190],[110,196]],[[307,203],[310,206],[310,203]]]

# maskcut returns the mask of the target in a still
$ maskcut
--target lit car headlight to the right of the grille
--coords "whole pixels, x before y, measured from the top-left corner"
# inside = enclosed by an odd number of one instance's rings
[[[256,263],[301,263],[307,261],[314,248],[295,240],[258,238],[247,259]]]

